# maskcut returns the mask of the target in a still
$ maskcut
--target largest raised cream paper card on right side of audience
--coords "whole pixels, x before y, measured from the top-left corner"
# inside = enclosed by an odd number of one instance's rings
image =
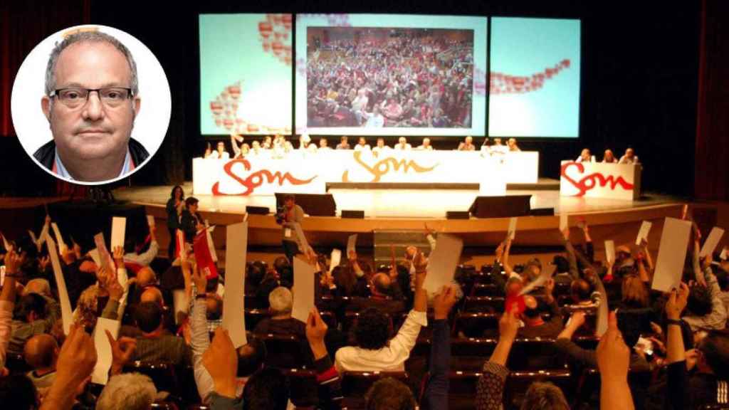
[[[652,290],[668,292],[681,285],[687,245],[691,236],[691,221],[666,218],[660,235],[658,260],[655,262]]]

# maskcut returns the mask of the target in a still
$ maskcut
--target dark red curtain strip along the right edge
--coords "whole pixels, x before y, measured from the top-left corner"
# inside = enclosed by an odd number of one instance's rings
[[[694,195],[729,200],[729,1],[701,1]]]

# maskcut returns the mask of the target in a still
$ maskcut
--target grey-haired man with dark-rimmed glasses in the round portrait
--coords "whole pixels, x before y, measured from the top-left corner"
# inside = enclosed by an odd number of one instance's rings
[[[33,156],[68,179],[122,177],[149,157],[131,138],[140,104],[136,63],[125,45],[101,31],[66,36],[48,59],[41,99],[53,139]]]

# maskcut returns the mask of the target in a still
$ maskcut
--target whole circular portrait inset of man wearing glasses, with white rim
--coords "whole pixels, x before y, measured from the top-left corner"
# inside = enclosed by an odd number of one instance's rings
[[[75,26],[44,39],[17,71],[12,122],[20,144],[55,177],[98,185],[141,169],[170,122],[170,87],[138,39]]]

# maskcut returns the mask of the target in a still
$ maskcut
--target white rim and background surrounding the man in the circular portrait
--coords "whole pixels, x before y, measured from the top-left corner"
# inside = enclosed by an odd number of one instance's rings
[[[141,105],[139,114],[134,120],[132,138],[139,141],[149,152],[149,157],[135,168],[114,179],[103,182],[84,182],[63,178],[47,169],[33,156],[43,144],[51,141],[53,136],[48,120],[41,109],[41,98],[44,96],[45,71],[48,58],[56,42],[63,41],[63,35],[69,31],[96,28],[105,34],[116,37],[125,45],[134,57],[139,79],[139,96]],[[139,171],[155,156],[167,134],[172,112],[172,96],[160,61],[149,48],[134,36],[117,28],[98,25],[73,26],[48,36],[28,54],[15,76],[10,98],[10,112],[15,133],[28,156],[41,169],[58,179],[79,185],[104,185],[119,181]]]

